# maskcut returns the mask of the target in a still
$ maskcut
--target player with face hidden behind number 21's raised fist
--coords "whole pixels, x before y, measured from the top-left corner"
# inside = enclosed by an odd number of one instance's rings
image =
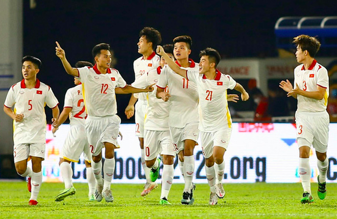
[[[168,56],[174,60],[173,45],[163,46]],[[138,78],[132,86],[134,87],[147,87],[150,84],[157,83],[161,74],[161,69],[165,65],[165,60],[160,59],[160,65],[157,69],[149,71],[147,74]],[[158,88],[155,88],[155,90]],[[165,92],[168,93],[166,87]],[[156,98],[156,93],[151,92],[147,95],[147,109],[146,118],[144,121],[144,147],[145,147],[145,162],[147,167],[156,169],[154,175],[151,175],[152,181],[156,181],[159,174],[160,160],[157,158],[159,154],[163,156],[163,172],[161,184],[161,196],[159,204],[171,205],[167,201],[168,193],[170,192],[171,185],[174,177],[174,157],[175,151],[172,145],[170,129],[168,128],[168,109],[169,103],[163,102]]]

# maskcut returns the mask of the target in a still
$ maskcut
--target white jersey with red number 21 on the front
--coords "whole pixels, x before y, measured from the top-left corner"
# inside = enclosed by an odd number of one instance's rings
[[[218,69],[214,80],[206,79],[199,70],[187,70],[188,80],[195,82],[199,93],[199,130],[204,132],[231,128],[232,119],[228,110],[227,89],[234,89],[236,82]]]

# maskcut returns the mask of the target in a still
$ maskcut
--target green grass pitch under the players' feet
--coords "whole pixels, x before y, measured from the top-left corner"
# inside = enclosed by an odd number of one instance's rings
[[[311,184],[315,203],[300,203],[299,183],[225,184],[226,197],[208,206],[209,187],[197,184],[195,203],[180,203],[183,185],[173,184],[168,200],[159,205],[160,186],[146,198],[140,184],[112,184],[113,203],[89,202],[87,184],[75,183],[75,196],[55,202],[62,183],[43,183],[37,206],[29,206],[25,182],[0,182],[0,218],[337,218],[337,184],[327,184],[325,200],[317,197],[317,183]]]

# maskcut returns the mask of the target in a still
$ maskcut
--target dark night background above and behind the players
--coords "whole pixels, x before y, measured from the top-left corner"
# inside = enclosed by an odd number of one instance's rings
[[[216,48],[223,58],[277,56],[274,26],[283,16],[333,16],[337,1],[42,1],[30,9],[24,1],[23,55],[41,59],[38,78],[50,85],[63,107],[64,95],[74,86],[55,55],[57,40],[70,64],[92,62],[91,49],[106,42],[128,84],[134,81],[133,61],[139,31],[153,27],[162,44],[179,35],[192,37],[191,58],[199,51]],[[129,95],[117,95],[122,123]],[[50,120],[51,110],[46,110]]]

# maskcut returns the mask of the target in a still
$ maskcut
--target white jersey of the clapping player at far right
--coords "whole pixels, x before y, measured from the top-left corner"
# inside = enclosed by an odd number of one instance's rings
[[[324,98],[317,100],[297,95],[298,112],[322,112],[326,110],[329,97],[329,77],[328,71],[321,64],[314,61],[308,69],[304,65],[297,66],[294,70],[294,87],[298,84],[299,88],[304,91],[317,91],[317,86],[326,88]]]

